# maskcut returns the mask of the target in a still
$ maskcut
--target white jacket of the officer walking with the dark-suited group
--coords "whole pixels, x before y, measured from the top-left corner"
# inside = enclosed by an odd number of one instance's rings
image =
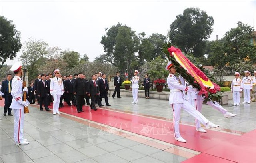
[[[63,88],[63,81],[61,78],[54,77],[51,79],[51,86],[50,86],[50,93],[51,95],[63,95],[64,88]]]

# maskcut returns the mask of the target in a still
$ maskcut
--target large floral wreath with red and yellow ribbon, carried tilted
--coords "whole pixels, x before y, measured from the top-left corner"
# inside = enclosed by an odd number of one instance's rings
[[[212,82],[198,67],[196,67],[186,56],[182,54],[180,49],[164,45],[164,52],[168,59],[176,67],[176,71],[182,76],[190,85],[199,90],[198,95],[205,96],[204,102],[220,101],[222,95],[220,93],[220,86]]]

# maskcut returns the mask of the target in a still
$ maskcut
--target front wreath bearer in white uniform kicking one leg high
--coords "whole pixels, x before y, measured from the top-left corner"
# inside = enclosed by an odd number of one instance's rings
[[[219,127],[219,125],[215,125],[211,123],[204,115],[202,115],[199,111],[196,110],[186,99],[184,99],[184,95],[182,91],[192,92],[197,91],[195,88],[186,87],[181,84],[178,77],[175,76],[176,68],[171,61],[168,62],[166,70],[169,71],[169,76],[167,78],[167,84],[170,89],[170,96],[169,96],[169,104],[172,106],[173,111],[173,123],[174,123],[174,137],[175,140],[180,142],[186,142],[180,135],[180,111],[183,108],[185,111],[190,113],[193,117],[195,117],[198,121],[200,121],[204,126],[207,128],[215,128]]]

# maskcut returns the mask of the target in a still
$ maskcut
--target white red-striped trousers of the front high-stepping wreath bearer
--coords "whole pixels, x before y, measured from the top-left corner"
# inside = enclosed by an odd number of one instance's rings
[[[174,127],[174,137],[178,138],[180,137],[180,128],[179,128],[179,122],[180,122],[180,110],[183,108],[185,111],[190,113],[193,117],[198,119],[202,124],[206,126],[206,123],[208,123],[208,119],[204,117],[199,111],[196,110],[195,107],[193,107],[188,101],[184,100],[184,103],[177,103],[172,104],[172,111],[173,111],[173,127]]]

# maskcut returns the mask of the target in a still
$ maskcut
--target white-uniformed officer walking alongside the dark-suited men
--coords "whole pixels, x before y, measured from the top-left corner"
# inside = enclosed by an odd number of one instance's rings
[[[59,112],[59,105],[60,105],[60,96],[64,93],[64,86],[62,79],[59,78],[60,76],[60,70],[56,69],[53,72],[54,78],[51,79],[51,85],[50,85],[50,93],[53,96],[53,115],[60,114]]]

